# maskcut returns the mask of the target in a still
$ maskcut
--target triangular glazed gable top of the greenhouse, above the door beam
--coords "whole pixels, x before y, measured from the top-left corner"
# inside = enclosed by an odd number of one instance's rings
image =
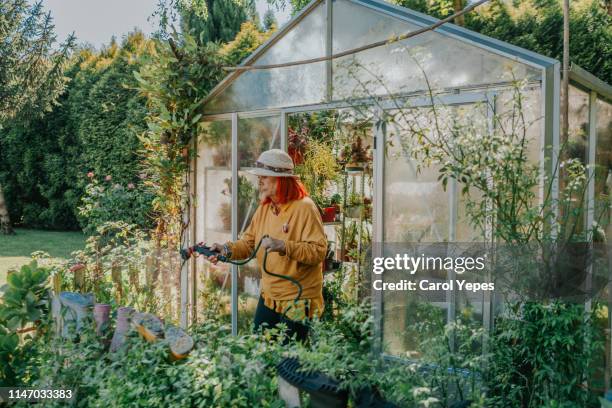
[[[438,21],[382,0],[313,0],[239,66],[330,57]],[[350,64],[365,69],[355,74]],[[447,23],[332,61],[233,71],[211,91],[204,109],[214,115],[317,105],[356,96],[409,95],[423,92],[430,83],[430,88],[442,91],[488,88],[515,78],[542,81],[544,71],[550,75],[558,67],[555,59]],[[585,72],[573,72],[572,79],[582,78],[578,82],[586,87],[597,85],[606,95],[609,85]],[[376,81],[379,84],[373,84]],[[359,86],[361,94],[356,91]]]

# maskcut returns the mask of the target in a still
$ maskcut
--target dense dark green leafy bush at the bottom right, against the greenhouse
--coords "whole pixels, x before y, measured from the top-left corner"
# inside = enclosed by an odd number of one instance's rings
[[[603,338],[582,304],[511,304],[491,336],[487,385],[491,407],[589,406]],[[510,403],[510,405],[509,405]]]

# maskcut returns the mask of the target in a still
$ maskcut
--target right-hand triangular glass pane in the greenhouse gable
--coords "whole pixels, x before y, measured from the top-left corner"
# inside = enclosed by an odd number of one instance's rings
[[[333,52],[421,28],[358,2],[334,1]],[[437,32],[340,58],[333,65],[334,99],[537,80],[538,69]]]

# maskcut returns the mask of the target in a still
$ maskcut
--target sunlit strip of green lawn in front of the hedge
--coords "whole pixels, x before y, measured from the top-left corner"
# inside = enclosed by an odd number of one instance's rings
[[[15,232],[16,235],[0,235],[0,285],[4,284],[9,269],[30,261],[32,252],[44,251],[53,258],[69,258],[72,251],[85,246],[85,236],[80,232],[30,229]]]

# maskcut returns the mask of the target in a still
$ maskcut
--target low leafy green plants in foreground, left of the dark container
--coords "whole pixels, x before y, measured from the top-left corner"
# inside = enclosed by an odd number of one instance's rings
[[[40,338],[18,383],[76,390],[78,405],[88,407],[284,406],[275,379],[281,350],[274,331],[234,337],[228,326],[210,321],[192,335],[196,349],[179,362],[169,358],[163,340],[150,344],[135,331],[107,354],[90,321],[78,339]]]

